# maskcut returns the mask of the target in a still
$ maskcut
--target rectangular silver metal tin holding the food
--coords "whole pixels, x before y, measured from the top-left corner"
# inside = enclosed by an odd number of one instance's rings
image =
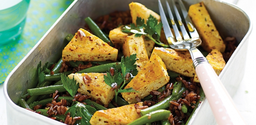
[[[203,1],[217,29],[223,35],[222,37],[235,36],[239,43],[239,46],[219,76],[228,92],[233,95],[243,77],[241,74],[244,73],[244,60],[246,59],[244,55],[247,52],[248,37],[251,33],[252,25],[247,14],[235,5],[216,0]],[[61,57],[61,50],[67,44],[63,43],[65,36],[69,33],[74,34],[79,28],[83,27],[85,25],[85,17],[90,16],[92,19],[95,19],[98,16],[116,10],[128,10],[128,4],[130,2],[132,0],[75,0],[24,59],[11,71],[9,76],[7,76],[4,82],[7,123],[10,125],[32,125],[35,123],[38,125],[61,125],[62,123],[58,121],[40,114],[35,114],[16,105],[21,95],[26,93],[26,89],[36,86],[35,83],[38,81],[38,76],[35,67],[40,60],[42,60],[42,64],[46,61],[56,62]],[[158,12],[156,0],[135,0],[134,2],[142,3],[147,8]],[[184,0],[184,2],[189,6],[200,1]],[[165,5],[163,7],[166,8]],[[234,71],[236,69],[239,69],[239,72]],[[197,111],[195,117],[192,118],[192,121],[189,124],[216,123],[207,99],[202,102],[200,109]]]

